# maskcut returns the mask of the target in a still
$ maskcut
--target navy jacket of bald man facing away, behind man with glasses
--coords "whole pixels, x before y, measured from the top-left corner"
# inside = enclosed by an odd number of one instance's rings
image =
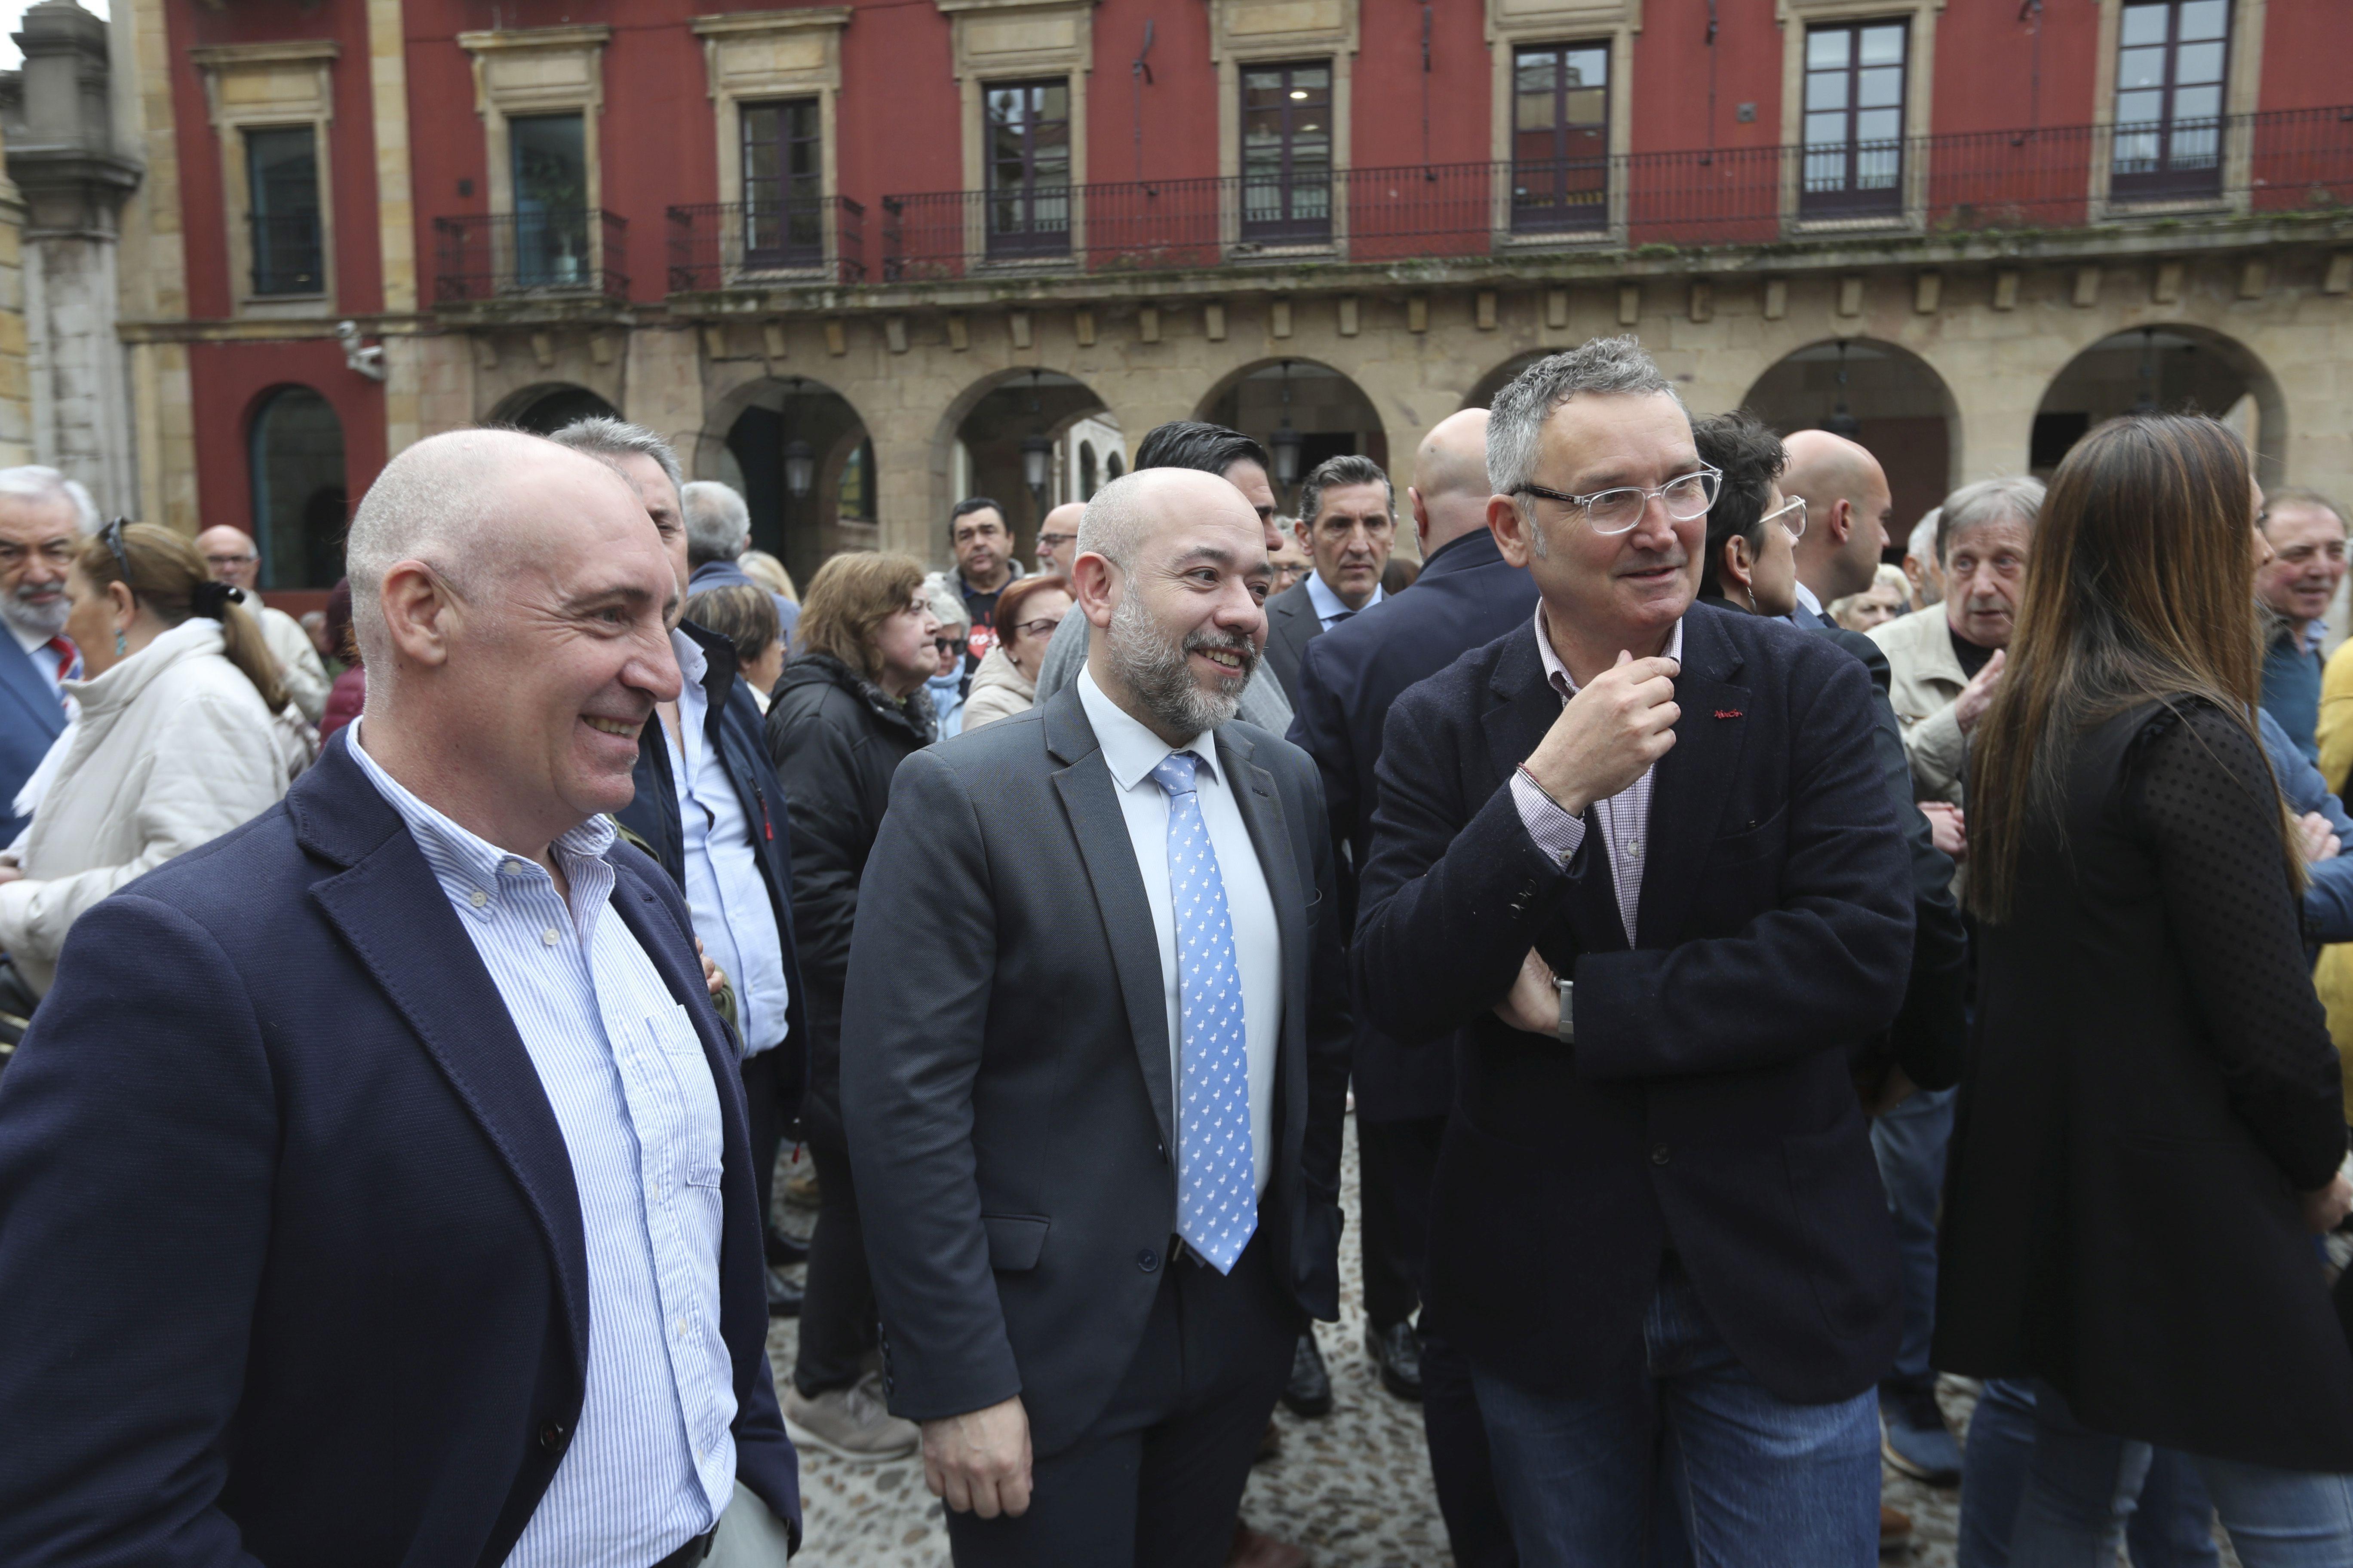
[[[1504,562],[1494,534],[1478,529],[1433,550],[1409,590],[1306,644],[1289,741],[1322,773],[1341,931],[1355,929],[1358,867],[1372,853],[1372,764],[1391,703],[1534,616],[1537,583]],[[1365,1121],[1445,1117],[1454,1103],[1452,1053],[1391,1039],[1369,1009],[1358,1009],[1351,1072],[1355,1114]]]

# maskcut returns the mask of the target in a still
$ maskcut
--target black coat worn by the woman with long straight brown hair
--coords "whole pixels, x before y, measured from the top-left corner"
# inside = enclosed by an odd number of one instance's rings
[[[2261,748],[2198,703],[2085,731],[1977,933],[1934,1363],[2040,1375],[2094,1432],[2353,1469],[2297,1201],[2344,1152]]]

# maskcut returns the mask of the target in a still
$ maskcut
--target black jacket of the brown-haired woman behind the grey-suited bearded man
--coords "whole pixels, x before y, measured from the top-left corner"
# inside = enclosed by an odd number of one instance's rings
[[[767,755],[793,825],[793,929],[809,1020],[800,1126],[835,1150],[842,1147],[842,983],[859,877],[889,806],[892,773],[932,743],[934,729],[932,693],[892,703],[828,654],[788,663],[767,705]]]

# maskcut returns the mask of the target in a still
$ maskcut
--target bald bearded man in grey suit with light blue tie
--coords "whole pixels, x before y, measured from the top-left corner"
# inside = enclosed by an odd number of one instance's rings
[[[1139,470],[1078,550],[1080,679],[892,780],[842,1117],[958,1568],[1217,1568],[1292,1347],[1339,1314],[1339,889],[1315,766],[1233,719],[1249,503]]]

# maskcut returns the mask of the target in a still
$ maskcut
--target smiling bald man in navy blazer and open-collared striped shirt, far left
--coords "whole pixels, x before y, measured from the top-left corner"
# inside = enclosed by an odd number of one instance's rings
[[[0,1088],[0,1561],[781,1568],[736,1051],[605,816],[668,555],[461,430],[348,557],[365,715],[75,922]]]

